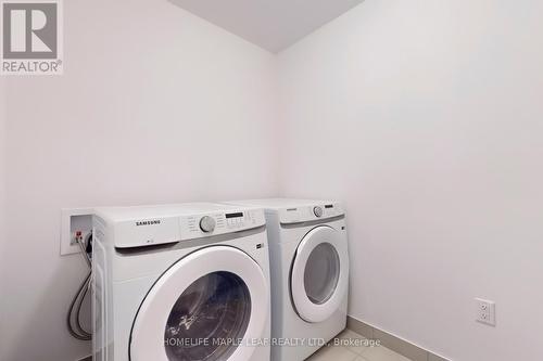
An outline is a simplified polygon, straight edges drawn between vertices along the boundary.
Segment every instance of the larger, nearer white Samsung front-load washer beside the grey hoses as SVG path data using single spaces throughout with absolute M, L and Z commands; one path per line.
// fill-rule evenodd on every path
M 262 209 L 99 208 L 92 255 L 94 361 L 269 360 Z

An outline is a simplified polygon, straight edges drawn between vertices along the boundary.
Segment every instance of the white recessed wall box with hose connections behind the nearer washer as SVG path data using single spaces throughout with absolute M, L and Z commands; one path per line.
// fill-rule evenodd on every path
M 85 241 L 92 231 L 92 208 L 64 208 L 61 211 L 61 256 L 77 254 L 81 249 L 76 236 Z

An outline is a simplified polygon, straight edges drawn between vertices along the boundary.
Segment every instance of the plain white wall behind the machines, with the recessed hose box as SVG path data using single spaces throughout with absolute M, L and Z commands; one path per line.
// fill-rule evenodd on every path
M 65 1 L 65 74 L 9 83 L 2 361 L 89 354 L 60 209 L 278 192 L 274 57 L 167 1 Z M 9 330 L 8 330 L 9 328 Z

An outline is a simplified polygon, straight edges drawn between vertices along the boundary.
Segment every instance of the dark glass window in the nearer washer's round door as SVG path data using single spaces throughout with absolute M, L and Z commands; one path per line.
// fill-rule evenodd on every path
M 228 360 L 250 317 L 251 295 L 239 276 L 219 271 L 198 279 L 169 313 L 164 332 L 168 360 Z

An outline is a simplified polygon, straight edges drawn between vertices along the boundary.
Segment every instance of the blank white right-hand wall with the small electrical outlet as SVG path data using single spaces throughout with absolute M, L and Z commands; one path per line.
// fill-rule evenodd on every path
M 279 57 L 282 191 L 345 201 L 351 314 L 453 360 L 543 358 L 542 13 L 367 0 Z

